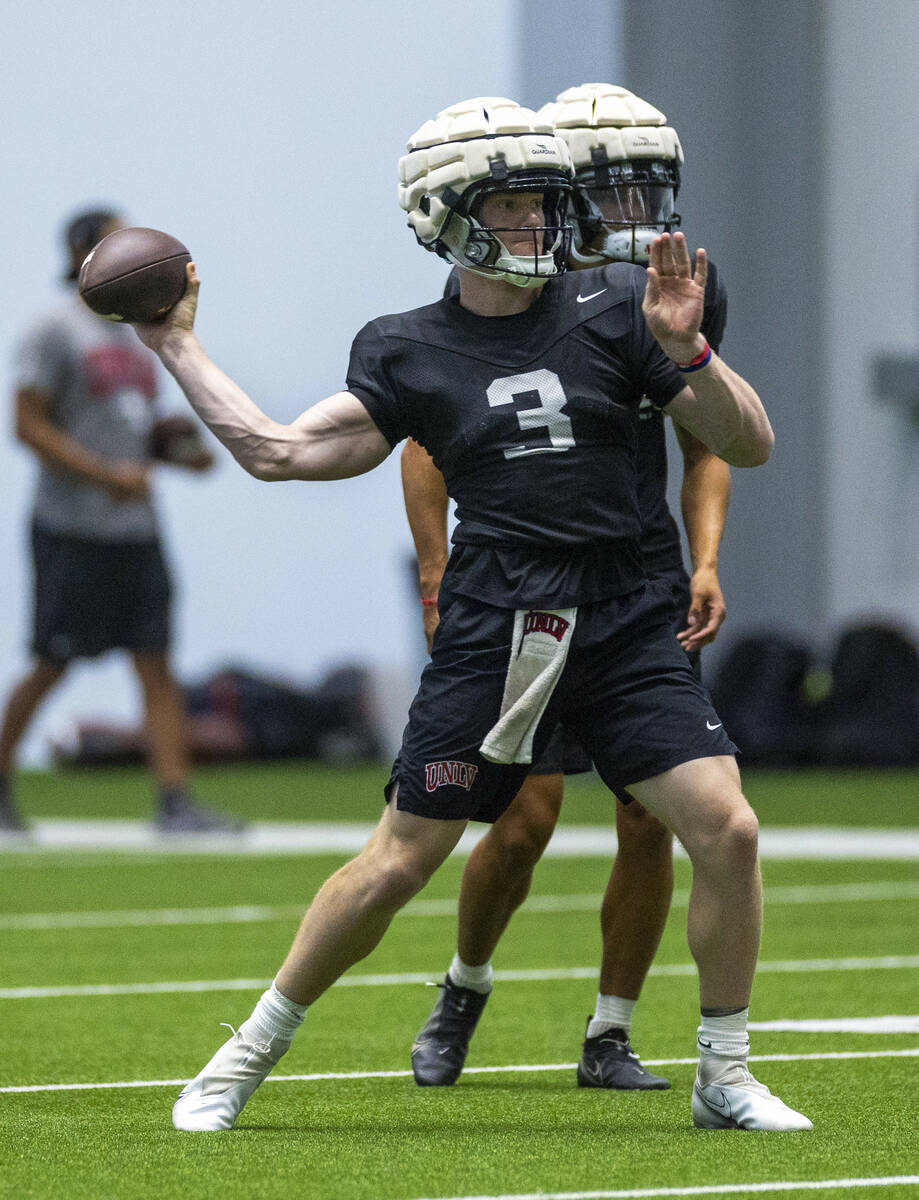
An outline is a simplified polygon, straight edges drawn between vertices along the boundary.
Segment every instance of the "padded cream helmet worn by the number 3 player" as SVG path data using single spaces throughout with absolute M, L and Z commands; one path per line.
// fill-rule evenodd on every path
M 565 270 L 571 161 L 565 140 L 531 109 L 498 96 L 461 101 L 413 134 L 398 166 L 398 200 L 425 250 L 524 288 Z M 524 227 L 531 253 L 511 253 L 501 240 L 512 233 L 519 250 L 519 227 L 479 220 L 485 197 L 507 192 L 542 194 L 543 223 Z

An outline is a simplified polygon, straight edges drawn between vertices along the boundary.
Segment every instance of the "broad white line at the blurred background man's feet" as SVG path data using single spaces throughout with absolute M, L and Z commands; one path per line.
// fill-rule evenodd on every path
M 362 822 L 254 822 L 245 834 L 211 838 L 169 836 L 146 821 L 36 821 L 31 835 L 1 836 L 0 850 L 136 851 L 160 854 L 354 854 L 374 829 Z M 454 853 L 468 854 L 486 827 L 470 827 Z M 609 826 L 560 826 L 549 842 L 548 857 L 605 858 L 615 854 L 615 832 Z M 677 853 L 683 850 L 677 847 Z M 764 828 L 759 830 L 762 858 L 900 859 L 919 862 L 919 829 L 853 829 L 831 827 Z

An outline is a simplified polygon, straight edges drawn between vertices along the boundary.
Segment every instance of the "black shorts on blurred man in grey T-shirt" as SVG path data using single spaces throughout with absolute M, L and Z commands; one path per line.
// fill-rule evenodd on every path
M 157 541 L 92 541 L 34 524 L 32 569 L 38 658 L 168 648 L 172 587 Z

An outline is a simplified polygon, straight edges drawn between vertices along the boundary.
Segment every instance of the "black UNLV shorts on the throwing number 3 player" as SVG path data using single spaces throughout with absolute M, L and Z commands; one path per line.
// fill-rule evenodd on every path
M 673 636 L 672 607 L 669 586 L 657 582 L 578 608 L 534 761 L 559 721 L 615 793 L 681 762 L 737 752 Z M 397 784 L 396 805 L 408 812 L 497 821 L 530 769 L 488 762 L 479 752 L 500 713 L 513 611 L 443 589 L 439 608 L 432 659 L 386 796 Z

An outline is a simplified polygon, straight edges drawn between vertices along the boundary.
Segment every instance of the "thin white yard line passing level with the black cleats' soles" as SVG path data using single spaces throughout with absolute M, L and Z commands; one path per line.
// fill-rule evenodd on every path
M 919 1058 L 919 1048 L 911 1050 L 839 1050 L 827 1054 L 751 1054 L 750 1062 L 828 1062 L 852 1058 Z M 697 1058 L 643 1058 L 645 1067 L 695 1067 Z M 464 1075 L 518 1075 L 547 1070 L 576 1070 L 575 1062 L 515 1063 L 507 1067 L 465 1067 Z M 410 1070 L 317 1072 L 312 1075 L 269 1075 L 266 1084 L 317 1084 L 349 1079 L 412 1079 Z M 0 1094 L 23 1092 L 96 1092 L 122 1087 L 184 1087 L 187 1079 L 131 1079 L 106 1084 L 18 1084 L 0 1087 Z

